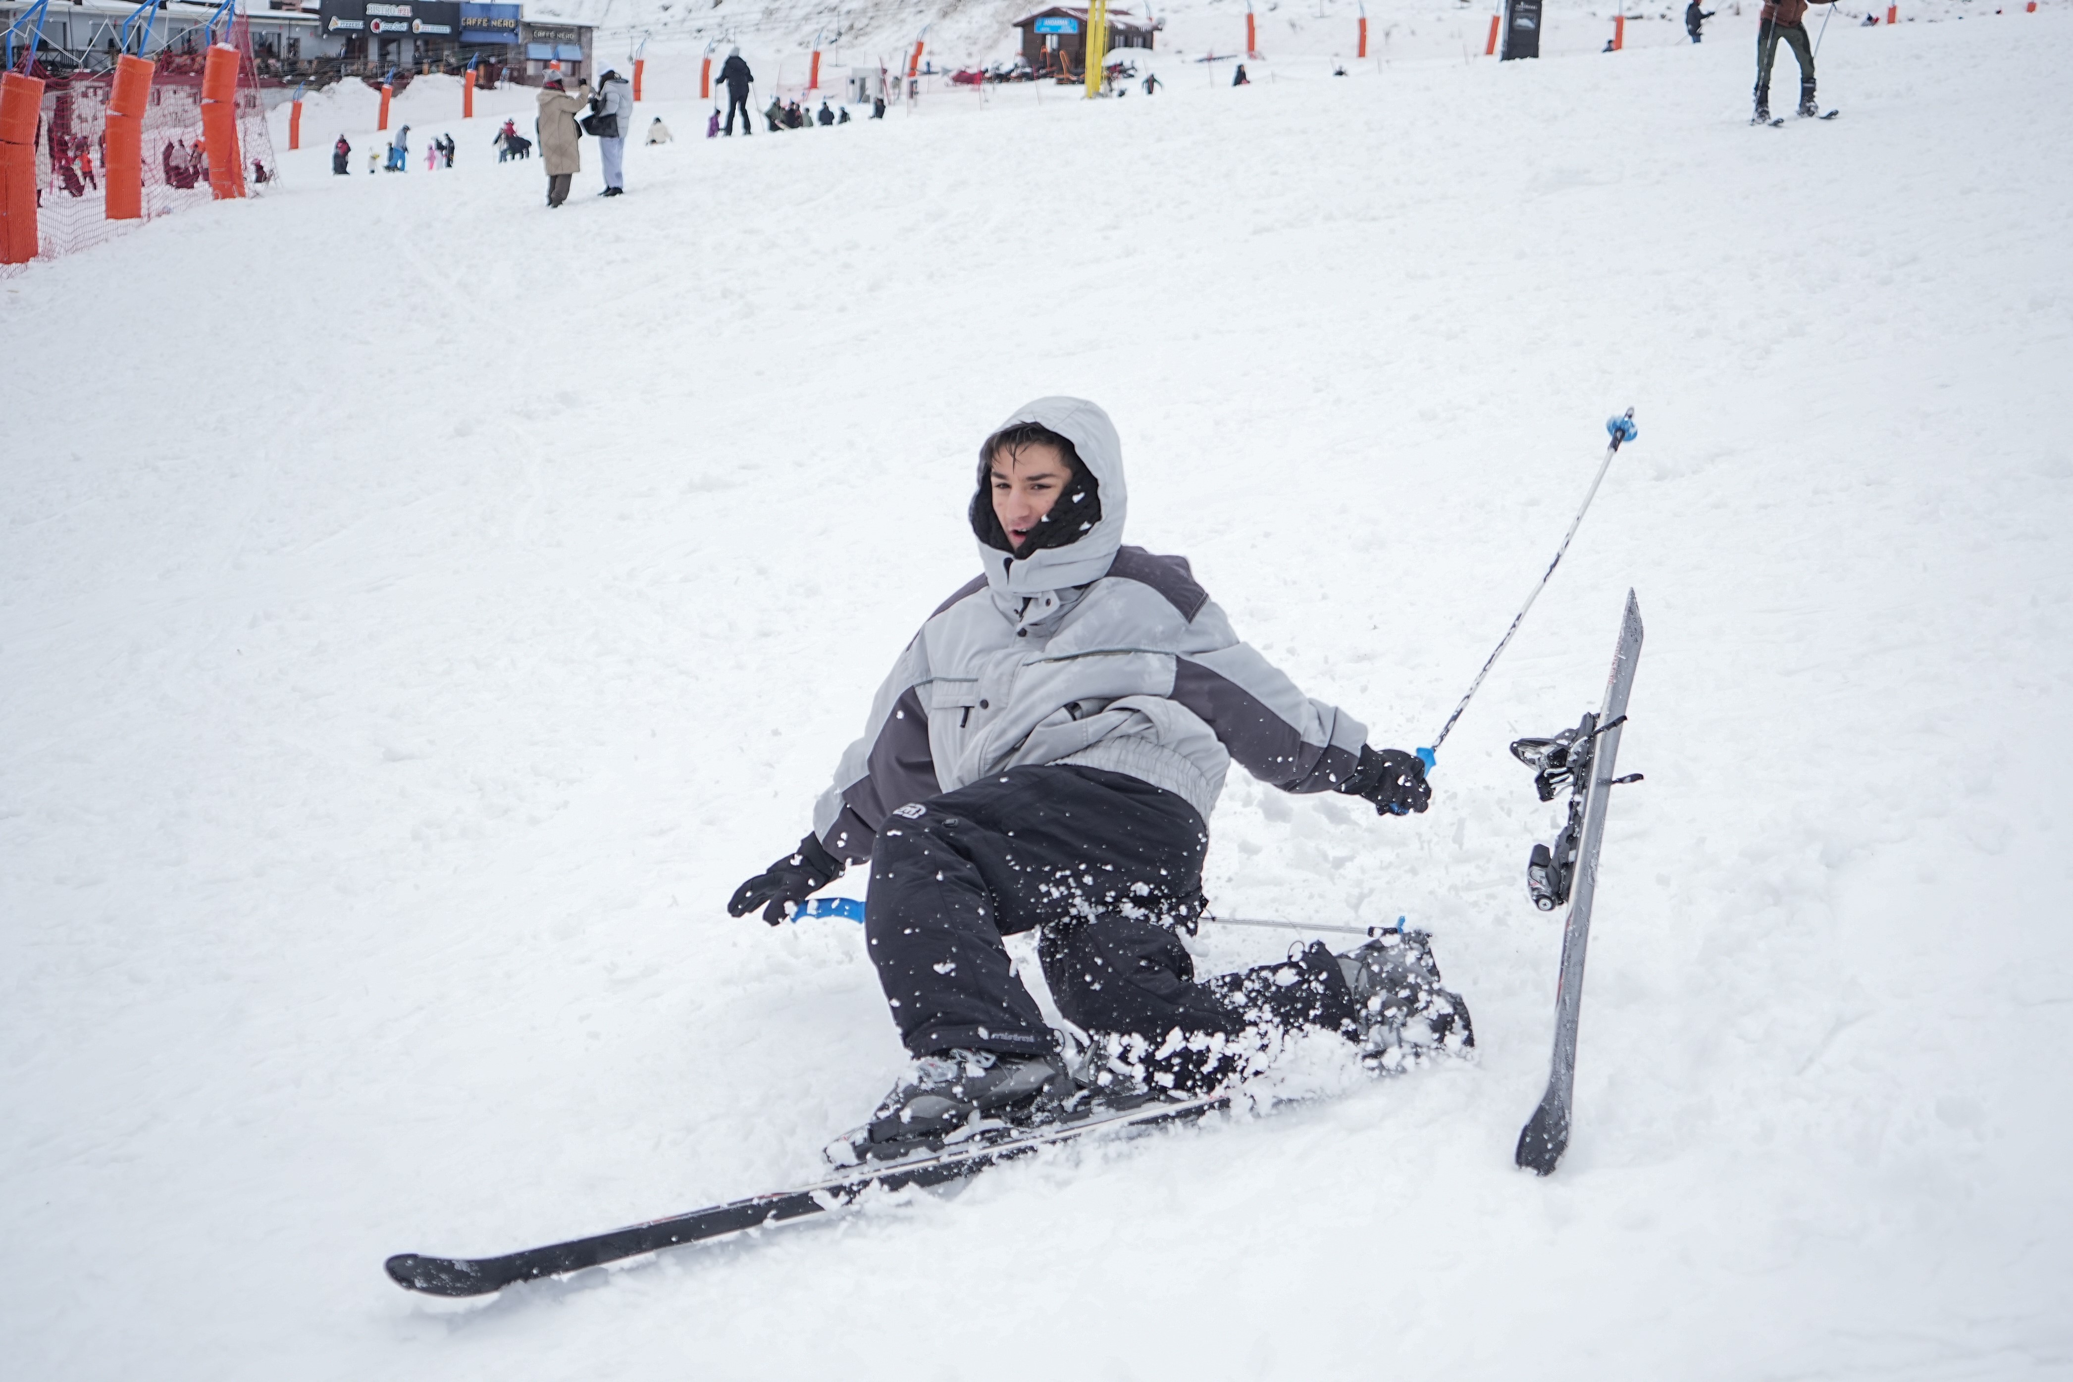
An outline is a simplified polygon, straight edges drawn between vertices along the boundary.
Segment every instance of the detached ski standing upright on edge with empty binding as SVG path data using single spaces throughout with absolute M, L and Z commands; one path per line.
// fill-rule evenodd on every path
M 1584 951 L 1590 945 L 1590 903 L 1598 891 L 1598 841 L 1605 837 L 1605 808 L 1613 794 L 1613 767 L 1619 758 L 1619 729 L 1627 719 L 1627 692 L 1634 690 L 1634 665 L 1642 657 L 1642 607 L 1627 591 L 1627 611 L 1619 622 L 1619 644 L 1613 651 L 1613 673 L 1605 684 L 1605 707 L 1596 717 L 1553 740 L 1520 740 L 1511 746 L 1536 769 L 1540 800 L 1553 798 L 1553 785 L 1567 781 L 1571 791 L 1569 827 L 1555 850 L 1534 847 L 1528 864 L 1528 887 L 1544 910 L 1569 903 L 1569 920 L 1561 937 L 1561 982 L 1555 990 L 1555 1057 L 1549 1063 L 1549 1088 L 1534 1117 L 1520 1129 L 1513 1160 L 1538 1175 L 1549 1175 L 1569 1148 L 1569 1098 L 1575 1088 L 1575 1024 L 1584 1003 Z M 1634 781 L 1634 779 L 1617 779 Z M 1582 798 L 1582 810 L 1578 810 Z

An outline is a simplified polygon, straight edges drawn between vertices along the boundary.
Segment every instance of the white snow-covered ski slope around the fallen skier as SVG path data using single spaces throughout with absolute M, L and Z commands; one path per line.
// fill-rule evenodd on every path
M 332 178 L 348 93 L 267 197 L 0 284 L 8 1376 L 2067 1376 L 2073 23 L 1837 25 L 1843 118 L 1779 131 L 1752 27 L 686 139 L 620 201 L 587 147 L 558 213 L 435 83 L 458 170 Z M 1047 392 L 1403 746 L 1636 406 L 1430 814 L 1215 820 L 1219 910 L 1430 928 L 1480 1063 L 1312 1048 L 1273 1117 L 398 1291 L 813 1177 L 883 1092 L 856 926 L 721 903 Z M 1538 1181 L 1505 742 L 1596 702 L 1629 584 L 1648 781 Z

